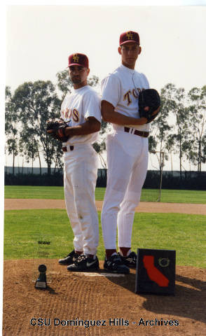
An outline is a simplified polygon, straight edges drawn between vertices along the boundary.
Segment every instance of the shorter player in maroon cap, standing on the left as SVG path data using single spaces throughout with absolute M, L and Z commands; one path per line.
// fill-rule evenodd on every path
M 88 57 L 81 53 L 69 56 L 69 76 L 74 86 L 61 106 L 66 128 L 64 151 L 64 197 L 74 232 L 74 251 L 60 259 L 69 271 L 99 269 L 97 246 L 99 221 L 95 206 L 98 158 L 92 143 L 101 127 L 100 97 L 87 83 Z

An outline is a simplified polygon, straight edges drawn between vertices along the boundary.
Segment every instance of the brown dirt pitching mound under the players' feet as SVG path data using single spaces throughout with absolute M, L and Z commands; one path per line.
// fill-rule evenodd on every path
M 4 336 L 205 335 L 205 269 L 177 266 L 176 295 L 159 296 L 135 294 L 135 270 L 105 276 L 102 262 L 96 274 L 70 273 L 57 260 L 46 266 L 48 289 L 37 290 L 34 260 L 4 262 Z

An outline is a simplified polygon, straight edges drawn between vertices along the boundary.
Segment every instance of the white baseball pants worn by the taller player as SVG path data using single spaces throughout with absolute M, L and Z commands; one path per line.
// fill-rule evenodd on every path
M 107 189 L 102 209 L 104 247 L 131 247 L 135 208 L 139 204 L 148 166 L 148 138 L 118 131 L 109 134 Z

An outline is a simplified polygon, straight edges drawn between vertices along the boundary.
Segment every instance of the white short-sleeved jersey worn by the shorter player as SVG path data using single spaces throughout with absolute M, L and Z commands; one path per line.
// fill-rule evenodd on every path
M 73 89 L 67 94 L 61 106 L 61 118 L 71 127 L 85 123 L 88 117 L 95 117 L 101 123 L 100 97 L 89 85 Z M 92 144 L 98 139 L 99 132 L 87 135 L 74 135 L 63 146 Z

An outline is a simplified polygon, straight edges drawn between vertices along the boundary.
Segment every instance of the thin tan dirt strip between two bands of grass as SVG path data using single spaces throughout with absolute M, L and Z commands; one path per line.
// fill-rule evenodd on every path
M 97 210 L 102 210 L 102 201 L 96 201 Z M 65 209 L 64 200 L 6 199 L 5 210 L 18 209 Z M 206 204 L 140 202 L 137 212 L 179 213 L 206 215 Z

